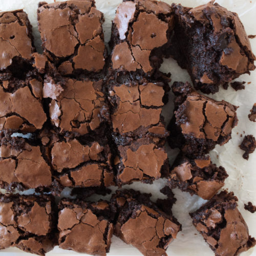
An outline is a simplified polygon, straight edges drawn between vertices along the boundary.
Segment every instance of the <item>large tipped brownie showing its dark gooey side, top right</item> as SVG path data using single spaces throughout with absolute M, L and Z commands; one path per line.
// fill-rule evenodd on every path
M 172 5 L 170 55 L 186 68 L 197 90 L 216 93 L 221 84 L 254 70 L 255 56 L 237 13 L 210 1 L 196 8 Z

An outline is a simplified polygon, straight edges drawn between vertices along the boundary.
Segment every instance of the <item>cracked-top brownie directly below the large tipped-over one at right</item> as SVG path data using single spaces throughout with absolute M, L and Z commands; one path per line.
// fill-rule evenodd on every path
M 190 157 L 207 154 L 231 138 L 237 125 L 237 106 L 216 101 L 194 91 L 188 82 L 174 82 L 174 117 L 169 124 L 169 144 Z

